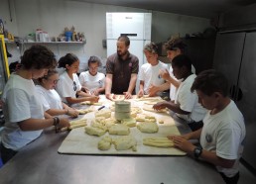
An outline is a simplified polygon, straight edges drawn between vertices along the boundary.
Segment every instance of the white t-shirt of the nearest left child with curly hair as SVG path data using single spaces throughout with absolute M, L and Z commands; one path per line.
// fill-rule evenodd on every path
M 18 122 L 28 119 L 45 119 L 43 105 L 37 96 L 33 80 L 12 74 L 5 85 L 2 101 L 4 105 L 5 129 L 2 142 L 6 148 L 18 150 L 38 138 L 40 131 L 22 131 Z

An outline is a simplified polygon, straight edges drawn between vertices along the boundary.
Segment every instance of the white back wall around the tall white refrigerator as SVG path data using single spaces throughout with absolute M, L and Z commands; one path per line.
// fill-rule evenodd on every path
M 2 1 L 2 0 L 1 0 Z M 106 12 L 151 12 L 152 41 L 164 42 L 174 34 L 184 37 L 186 34 L 203 32 L 209 27 L 209 20 L 178 14 L 148 11 L 119 6 L 99 5 L 68 0 L 10 0 L 13 22 L 8 21 L 8 0 L 1 3 L 0 17 L 6 20 L 9 32 L 21 38 L 35 32 L 37 28 L 47 31 L 50 36 L 58 37 L 64 27 L 75 27 L 86 38 L 84 46 L 50 46 L 61 56 L 66 52 L 77 55 L 99 55 L 106 57 L 102 40 L 106 39 Z M 2 10 L 3 15 L 2 15 Z M 16 49 L 16 46 L 10 46 Z M 11 51 L 11 50 L 10 50 Z

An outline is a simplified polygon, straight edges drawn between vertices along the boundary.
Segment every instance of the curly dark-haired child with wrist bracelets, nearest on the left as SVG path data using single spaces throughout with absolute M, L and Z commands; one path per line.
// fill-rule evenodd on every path
M 12 73 L 2 95 L 5 128 L 0 145 L 6 163 L 20 148 L 40 137 L 43 129 L 68 127 L 68 119 L 44 113 L 33 79 L 47 74 L 56 65 L 53 51 L 46 46 L 31 46 L 25 50 L 21 68 Z M 48 118 L 48 119 L 45 119 Z

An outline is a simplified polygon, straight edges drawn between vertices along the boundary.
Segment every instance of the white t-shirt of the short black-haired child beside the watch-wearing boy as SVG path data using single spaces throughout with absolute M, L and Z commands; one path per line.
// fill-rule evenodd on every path
M 191 91 L 192 83 L 195 77 L 196 75 L 192 74 L 180 84 L 175 99 L 175 103 L 180 104 L 180 108 L 182 110 L 191 112 L 189 115 L 177 114 L 177 116 L 186 120 L 188 123 L 191 123 L 192 121 L 199 122 L 204 118 L 206 114 L 206 109 L 204 109 L 198 103 L 197 94 L 195 91 Z

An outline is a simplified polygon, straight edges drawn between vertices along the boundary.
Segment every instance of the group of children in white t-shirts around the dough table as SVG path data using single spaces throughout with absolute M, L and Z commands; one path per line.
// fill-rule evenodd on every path
M 153 108 L 169 108 L 188 122 L 192 133 L 168 138 L 195 158 L 214 164 L 226 183 L 237 183 L 245 126 L 242 114 L 228 97 L 227 80 L 214 70 L 196 76 L 191 59 L 183 53 L 185 44 L 181 40 L 168 42 L 166 48 L 170 68 L 158 60 L 154 43 L 144 46 L 148 63 L 141 66 L 137 95 L 156 96 L 170 89 L 171 101 L 158 103 Z M 98 94 L 105 90 L 105 75 L 97 72 L 100 61 L 95 56 L 88 60 L 89 70 L 79 77 L 76 75 L 79 59 L 74 54 L 67 53 L 59 60 L 58 67 L 65 69 L 59 76 L 55 55 L 45 46 L 27 49 L 21 64 L 22 67 L 10 76 L 2 95 L 6 123 L 0 151 L 4 163 L 21 147 L 38 138 L 43 129 L 68 127 L 68 119 L 58 117 L 78 116 L 68 105 L 97 102 Z M 34 79 L 38 81 L 36 86 Z M 107 88 L 109 93 L 109 86 Z M 193 138 L 199 139 L 200 146 L 189 141 Z

